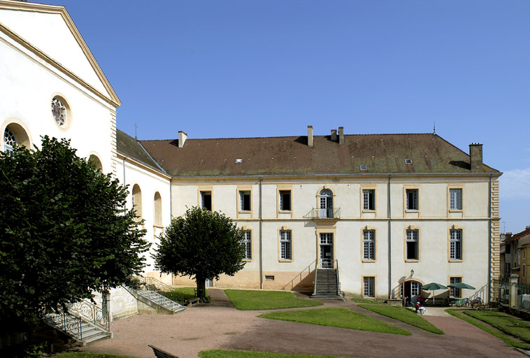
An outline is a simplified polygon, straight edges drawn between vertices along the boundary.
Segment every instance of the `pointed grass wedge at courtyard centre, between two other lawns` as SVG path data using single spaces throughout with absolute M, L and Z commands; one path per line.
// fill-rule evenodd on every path
M 373 305 L 375 306 L 375 305 Z M 315 308 L 312 310 L 287 310 L 281 312 L 265 313 L 259 317 L 271 320 L 283 320 L 321 326 L 357 329 L 359 331 L 371 331 L 389 334 L 410 333 L 392 324 L 388 324 L 367 315 L 348 310 L 348 308 Z

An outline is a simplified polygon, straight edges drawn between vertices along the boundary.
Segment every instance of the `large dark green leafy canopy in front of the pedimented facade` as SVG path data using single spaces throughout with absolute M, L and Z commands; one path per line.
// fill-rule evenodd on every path
M 45 136 L 0 154 L 0 317 L 38 317 L 127 284 L 149 249 L 127 189 Z

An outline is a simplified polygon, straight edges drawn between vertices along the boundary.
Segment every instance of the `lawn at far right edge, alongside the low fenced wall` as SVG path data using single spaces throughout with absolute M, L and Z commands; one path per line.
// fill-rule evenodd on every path
M 464 310 L 464 313 L 491 324 L 510 336 L 530 343 L 530 322 L 499 312 L 499 310 Z

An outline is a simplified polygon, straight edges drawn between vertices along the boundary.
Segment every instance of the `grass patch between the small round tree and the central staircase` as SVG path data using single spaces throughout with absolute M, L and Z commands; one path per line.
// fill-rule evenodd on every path
M 228 298 L 238 310 L 279 310 L 320 306 L 322 302 L 299 299 L 292 292 L 252 291 L 246 289 L 225 289 Z

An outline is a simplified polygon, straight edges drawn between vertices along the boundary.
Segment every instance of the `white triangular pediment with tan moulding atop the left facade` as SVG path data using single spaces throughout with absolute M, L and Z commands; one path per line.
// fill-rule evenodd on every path
M 120 106 L 120 99 L 63 6 L 0 0 L 0 31 Z

